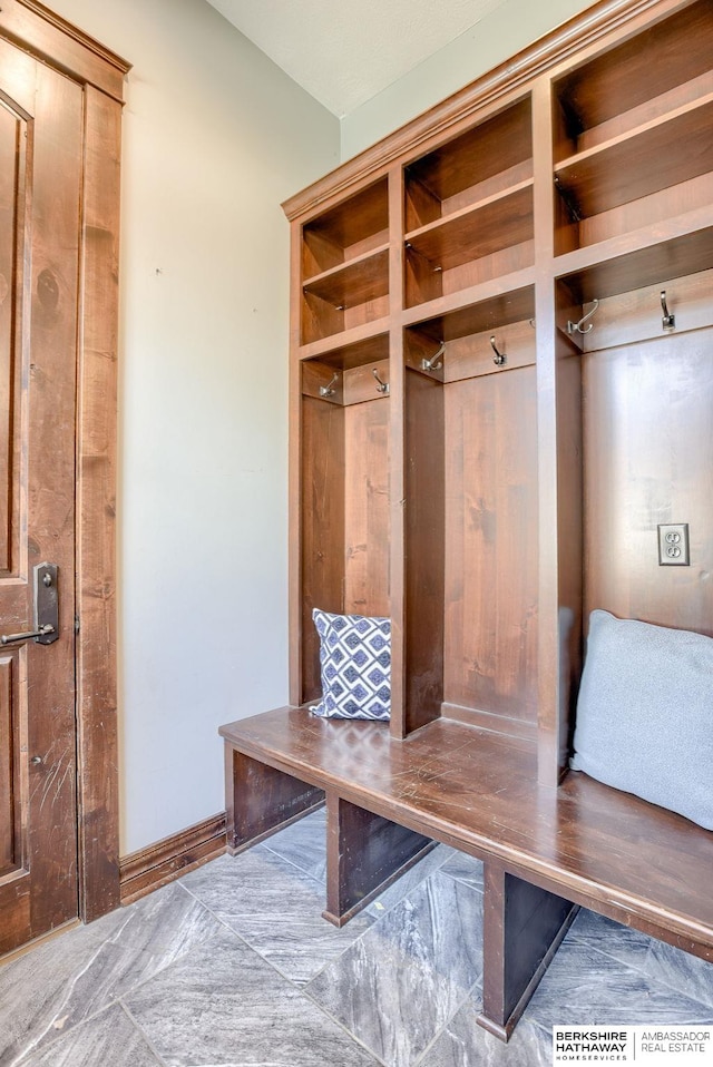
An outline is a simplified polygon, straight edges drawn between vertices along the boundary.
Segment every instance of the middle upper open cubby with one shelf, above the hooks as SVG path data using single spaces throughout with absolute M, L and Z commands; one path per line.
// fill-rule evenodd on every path
M 529 96 L 406 168 L 406 303 L 534 262 Z

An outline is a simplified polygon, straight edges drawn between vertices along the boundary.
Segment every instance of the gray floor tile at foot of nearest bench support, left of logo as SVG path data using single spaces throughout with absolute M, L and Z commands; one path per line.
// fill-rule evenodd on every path
M 551 1067 L 550 1037 L 528 1019 L 520 1019 L 505 1045 L 478 1026 L 479 1002 L 468 1002 L 419 1060 L 418 1067 Z

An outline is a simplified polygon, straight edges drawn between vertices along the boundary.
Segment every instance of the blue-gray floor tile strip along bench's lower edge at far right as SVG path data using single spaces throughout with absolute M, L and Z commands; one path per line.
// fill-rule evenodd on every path
M 567 934 L 713 1009 L 713 963 L 584 908 Z

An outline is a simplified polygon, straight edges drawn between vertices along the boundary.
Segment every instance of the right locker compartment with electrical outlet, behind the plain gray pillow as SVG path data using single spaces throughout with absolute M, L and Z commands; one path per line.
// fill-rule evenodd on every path
M 569 745 L 595 608 L 713 636 L 713 242 L 703 270 L 702 256 L 664 251 L 662 260 L 690 273 L 654 278 L 642 257 L 637 272 L 613 261 L 557 283 L 557 345 L 574 355 L 560 360 L 569 370 L 557 401 L 557 607 L 572 627 L 559 650 L 568 686 L 561 736 Z M 567 323 L 595 306 L 577 351 Z M 688 525 L 690 566 L 660 562 L 661 523 Z

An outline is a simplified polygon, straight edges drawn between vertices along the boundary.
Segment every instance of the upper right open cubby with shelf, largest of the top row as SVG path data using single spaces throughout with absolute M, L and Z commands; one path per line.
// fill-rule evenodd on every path
M 555 81 L 555 253 L 713 203 L 713 10 L 699 0 Z

